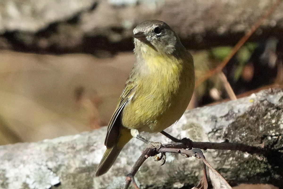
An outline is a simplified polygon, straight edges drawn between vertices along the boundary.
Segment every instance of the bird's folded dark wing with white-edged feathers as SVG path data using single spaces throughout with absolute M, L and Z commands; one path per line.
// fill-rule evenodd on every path
M 135 88 L 136 82 L 134 82 L 134 80 L 129 77 L 118 101 L 117 108 L 115 109 L 108 124 L 108 130 L 104 142 L 107 148 L 112 148 L 112 146 L 118 142 L 120 128 L 123 126 L 121 120 L 121 112 L 128 101 L 130 101 L 130 99 L 132 99 L 132 97 L 134 96 Z

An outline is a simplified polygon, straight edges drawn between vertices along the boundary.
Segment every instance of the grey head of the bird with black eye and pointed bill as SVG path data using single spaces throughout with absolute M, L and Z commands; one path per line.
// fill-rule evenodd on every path
M 160 20 L 146 20 L 134 29 L 135 52 L 151 47 L 162 54 L 172 54 L 176 44 L 183 46 L 176 33 Z M 141 52 L 142 53 L 142 52 Z

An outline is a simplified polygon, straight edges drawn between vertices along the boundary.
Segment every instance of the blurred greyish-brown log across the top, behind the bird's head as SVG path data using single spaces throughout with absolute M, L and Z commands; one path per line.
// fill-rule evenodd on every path
M 167 22 L 187 48 L 235 44 L 275 0 L 2 0 L 0 48 L 106 56 L 132 50 L 143 20 Z M 282 38 L 283 4 L 251 39 Z M 108 52 L 108 53 L 106 53 Z

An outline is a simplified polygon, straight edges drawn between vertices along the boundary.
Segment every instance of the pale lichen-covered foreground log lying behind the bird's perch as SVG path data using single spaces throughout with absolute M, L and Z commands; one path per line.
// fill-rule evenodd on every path
M 207 161 L 231 184 L 269 183 L 283 187 L 283 91 L 267 90 L 249 97 L 185 112 L 173 136 L 193 141 L 244 143 L 269 149 L 265 156 L 233 150 L 205 150 Z M 38 143 L 0 146 L 0 188 L 121 188 L 125 175 L 146 145 L 132 139 L 113 167 L 101 177 L 95 171 L 106 147 L 106 127 Z M 160 133 L 144 135 L 151 141 L 170 143 Z M 181 188 L 198 183 L 201 161 L 167 153 L 167 162 L 149 158 L 136 181 L 143 188 Z

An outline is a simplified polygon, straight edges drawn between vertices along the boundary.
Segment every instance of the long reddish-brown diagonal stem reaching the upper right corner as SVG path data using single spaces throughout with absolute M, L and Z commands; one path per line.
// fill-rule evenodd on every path
M 199 79 L 196 82 L 195 88 L 197 88 L 198 86 L 200 86 L 200 84 L 202 82 L 204 82 L 205 80 L 207 80 L 208 78 L 210 78 L 211 76 L 213 76 L 215 73 L 218 73 L 220 71 L 222 71 L 222 69 L 226 66 L 226 64 L 230 61 L 230 59 L 236 54 L 236 52 L 238 52 L 238 50 L 241 48 L 241 46 L 243 46 L 243 44 L 250 38 L 250 36 L 256 31 L 256 29 L 258 29 L 258 27 L 260 27 L 260 25 L 262 24 L 262 22 L 271 14 L 274 12 L 274 10 L 276 9 L 276 7 L 278 7 L 278 5 L 281 3 L 282 0 L 277 0 L 276 3 L 274 3 L 274 5 L 272 7 L 270 7 L 265 14 L 263 14 L 263 16 L 260 18 L 260 20 L 258 20 L 258 22 L 256 22 L 250 29 L 250 31 L 248 31 L 243 37 L 242 39 L 233 47 L 233 49 L 231 50 L 230 54 L 213 70 L 208 71 L 207 73 L 204 74 L 204 77 Z

